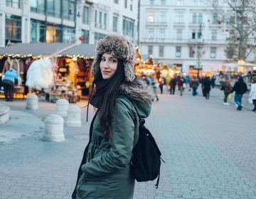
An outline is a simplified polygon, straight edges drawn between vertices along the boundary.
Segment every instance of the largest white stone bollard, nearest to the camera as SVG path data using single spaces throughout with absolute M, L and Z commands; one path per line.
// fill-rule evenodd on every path
M 44 120 L 45 133 L 43 134 L 44 141 L 63 141 L 65 136 L 63 134 L 63 117 L 58 114 L 50 114 Z

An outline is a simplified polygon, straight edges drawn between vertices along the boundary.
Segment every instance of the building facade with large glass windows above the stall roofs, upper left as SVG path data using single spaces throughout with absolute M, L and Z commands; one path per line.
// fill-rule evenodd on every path
M 1 0 L 0 47 L 90 43 L 119 34 L 137 43 L 136 0 Z

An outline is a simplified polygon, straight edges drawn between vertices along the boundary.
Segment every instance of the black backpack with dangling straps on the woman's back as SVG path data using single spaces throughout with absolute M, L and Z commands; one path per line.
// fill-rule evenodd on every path
M 154 181 L 158 176 L 156 181 L 156 188 L 158 188 L 161 160 L 163 161 L 163 159 L 154 137 L 144 126 L 145 120 L 139 114 L 138 117 L 140 122 L 139 139 L 132 149 L 132 174 L 138 182 Z

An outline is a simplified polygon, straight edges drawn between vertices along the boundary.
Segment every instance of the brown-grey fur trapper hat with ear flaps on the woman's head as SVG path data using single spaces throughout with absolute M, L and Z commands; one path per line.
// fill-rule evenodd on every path
M 136 60 L 136 50 L 133 43 L 124 36 L 109 35 L 97 43 L 96 56 L 92 63 L 91 72 L 95 76 L 100 70 L 102 54 L 109 53 L 114 57 L 124 61 L 125 80 L 134 80 L 134 65 Z

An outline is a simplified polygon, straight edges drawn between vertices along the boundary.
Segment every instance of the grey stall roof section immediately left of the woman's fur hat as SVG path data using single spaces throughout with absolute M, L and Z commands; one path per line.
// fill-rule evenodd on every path
M 94 57 L 96 45 L 82 43 L 80 45 L 75 46 L 74 48 L 70 48 L 68 50 L 63 51 L 60 55 L 80 55 L 85 57 Z

